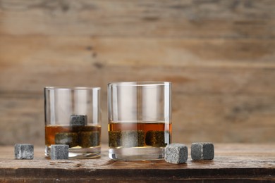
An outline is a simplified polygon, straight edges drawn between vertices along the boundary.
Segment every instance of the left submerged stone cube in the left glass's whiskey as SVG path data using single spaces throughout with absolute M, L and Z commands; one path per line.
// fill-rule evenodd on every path
M 73 132 L 56 133 L 55 144 L 66 144 L 69 147 L 78 146 L 78 134 Z

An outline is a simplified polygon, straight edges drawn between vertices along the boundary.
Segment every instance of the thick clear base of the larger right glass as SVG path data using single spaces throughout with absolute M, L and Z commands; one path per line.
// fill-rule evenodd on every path
M 109 158 L 112 160 L 163 160 L 164 148 L 151 146 L 109 148 Z

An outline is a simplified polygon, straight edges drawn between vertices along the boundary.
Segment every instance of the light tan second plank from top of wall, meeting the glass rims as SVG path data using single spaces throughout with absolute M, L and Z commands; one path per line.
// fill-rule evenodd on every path
M 219 39 L 0 39 L 0 89 L 37 92 L 43 86 L 62 83 L 105 88 L 108 82 L 119 80 L 169 80 L 176 84 L 173 89 L 177 92 L 245 90 L 244 94 L 274 95 L 275 91 L 273 39 L 255 39 L 254 44 Z M 185 87 L 178 89 L 178 84 Z

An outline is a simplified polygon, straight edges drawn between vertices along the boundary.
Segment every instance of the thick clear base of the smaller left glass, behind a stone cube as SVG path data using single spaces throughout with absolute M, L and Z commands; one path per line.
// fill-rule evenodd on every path
M 69 148 L 69 159 L 98 158 L 100 156 L 100 146 L 91 148 L 74 147 Z M 45 146 L 45 156 L 51 158 L 51 146 Z

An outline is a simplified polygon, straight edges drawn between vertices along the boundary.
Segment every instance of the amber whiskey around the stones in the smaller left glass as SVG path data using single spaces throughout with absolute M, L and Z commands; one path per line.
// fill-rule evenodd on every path
M 51 146 L 55 143 L 55 137 L 57 133 L 80 133 L 80 132 L 97 132 L 100 137 L 101 126 L 59 126 L 50 125 L 45 127 L 45 144 L 46 146 Z M 100 138 L 99 138 L 100 139 Z M 100 144 L 98 141 L 97 144 Z M 79 147 L 79 146 L 78 146 Z

